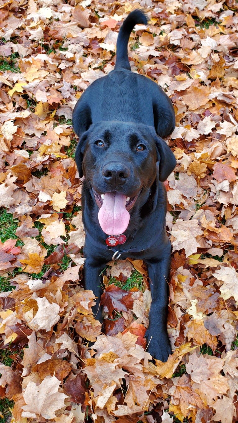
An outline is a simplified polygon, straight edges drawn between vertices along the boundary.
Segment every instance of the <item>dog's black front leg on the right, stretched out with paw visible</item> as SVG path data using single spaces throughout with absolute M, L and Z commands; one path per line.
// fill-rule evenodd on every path
M 167 332 L 170 249 L 162 259 L 147 260 L 152 302 L 146 332 L 148 352 L 157 360 L 167 361 L 172 354 Z

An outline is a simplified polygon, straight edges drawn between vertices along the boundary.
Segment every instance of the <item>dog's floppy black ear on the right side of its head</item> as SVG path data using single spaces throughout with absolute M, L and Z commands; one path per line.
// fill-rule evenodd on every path
M 170 173 L 174 170 L 176 159 L 169 146 L 167 146 L 161 137 L 156 137 L 155 144 L 158 152 L 159 180 L 163 182 L 166 181 Z

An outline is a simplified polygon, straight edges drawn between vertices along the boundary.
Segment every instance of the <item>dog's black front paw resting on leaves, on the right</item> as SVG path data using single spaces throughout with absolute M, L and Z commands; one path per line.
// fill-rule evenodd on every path
M 153 358 L 160 361 L 167 361 L 169 354 L 172 354 L 169 336 L 166 333 L 153 333 L 149 330 L 145 334 L 147 338 L 147 351 Z

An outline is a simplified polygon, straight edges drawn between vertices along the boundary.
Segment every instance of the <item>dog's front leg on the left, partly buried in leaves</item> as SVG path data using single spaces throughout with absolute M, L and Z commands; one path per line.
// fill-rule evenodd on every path
M 97 263 L 86 258 L 83 268 L 84 288 L 91 289 L 96 297 L 96 305 L 92 307 L 94 318 L 102 323 L 102 307 L 100 299 L 103 292 L 101 273 L 105 269 L 105 263 Z

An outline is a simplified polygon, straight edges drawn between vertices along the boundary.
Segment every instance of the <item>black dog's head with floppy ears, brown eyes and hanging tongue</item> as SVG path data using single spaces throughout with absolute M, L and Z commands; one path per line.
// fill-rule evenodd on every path
M 125 232 L 129 211 L 142 193 L 149 192 L 157 173 L 165 181 L 176 164 L 154 128 L 119 121 L 92 124 L 80 137 L 75 161 L 99 207 L 100 226 L 109 235 Z

